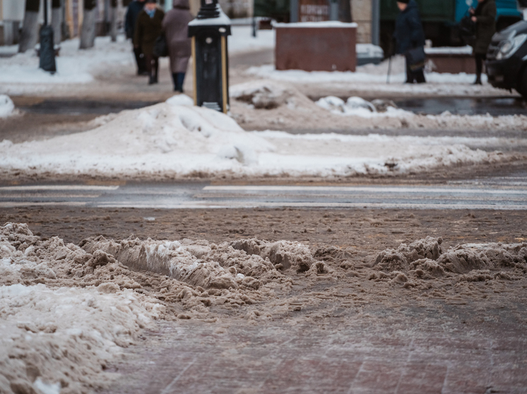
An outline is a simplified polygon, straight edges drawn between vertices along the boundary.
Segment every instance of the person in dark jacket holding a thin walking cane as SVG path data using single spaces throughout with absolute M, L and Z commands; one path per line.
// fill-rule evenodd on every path
M 401 13 L 397 16 L 396 29 L 393 37 L 396 39 L 396 52 L 408 54 L 410 49 L 425 46 L 425 32 L 422 30 L 418 4 L 415 0 L 398 0 L 397 6 Z M 406 56 L 406 83 L 424 83 L 425 73 L 420 70 L 411 70 Z

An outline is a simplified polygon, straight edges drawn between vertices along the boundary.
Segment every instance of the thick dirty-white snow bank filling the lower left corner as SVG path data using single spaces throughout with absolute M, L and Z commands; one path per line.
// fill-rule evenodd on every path
M 77 260 L 65 260 L 66 250 Z M 1 393 L 96 388 L 94 377 L 119 348 L 134 343 L 164 311 L 109 276 L 76 287 L 79 277 L 71 269 L 82 266 L 83 257 L 75 245 L 41 241 L 27 226 L 0 228 Z

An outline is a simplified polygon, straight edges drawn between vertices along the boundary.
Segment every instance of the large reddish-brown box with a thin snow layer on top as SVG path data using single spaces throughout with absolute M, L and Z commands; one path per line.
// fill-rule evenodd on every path
M 355 71 L 356 44 L 356 23 L 279 23 L 276 69 Z

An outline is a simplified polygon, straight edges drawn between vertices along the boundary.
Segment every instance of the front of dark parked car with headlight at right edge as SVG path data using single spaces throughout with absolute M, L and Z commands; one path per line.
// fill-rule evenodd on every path
M 492 36 L 485 66 L 492 86 L 515 89 L 527 99 L 526 20 L 514 23 Z

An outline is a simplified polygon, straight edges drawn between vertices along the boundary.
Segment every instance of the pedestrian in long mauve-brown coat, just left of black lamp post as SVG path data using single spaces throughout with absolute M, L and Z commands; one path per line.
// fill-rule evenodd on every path
M 173 0 L 174 8 L 163 19 L 163 30 L 170 55 L 170 71 L 174 80 L 174 91 L 183 92 L 186 67 L 191 56 L 189 22 L 192 20 L 189 0 Z

